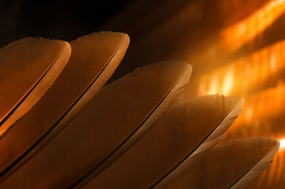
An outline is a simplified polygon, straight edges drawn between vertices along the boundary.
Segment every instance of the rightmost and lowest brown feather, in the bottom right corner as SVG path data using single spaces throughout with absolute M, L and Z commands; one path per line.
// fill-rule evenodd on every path
M 220 144 L 166 188 L 245 188 L 270 166 L 278 149 L 279 141 L 264 137 Z

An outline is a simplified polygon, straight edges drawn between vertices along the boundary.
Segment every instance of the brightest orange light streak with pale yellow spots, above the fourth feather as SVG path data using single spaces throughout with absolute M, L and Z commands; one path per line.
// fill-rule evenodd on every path
M 283 75 L 283 72 L 285 72 L 285 41 L 280 41 L 229 63 L 223 68 L 202 75 L 197 85 L 197 96 L 214 93 L 244 96 L 256 90 L 258 85 L 271 82 L 269 79 L 274 80 L 274 77 Z

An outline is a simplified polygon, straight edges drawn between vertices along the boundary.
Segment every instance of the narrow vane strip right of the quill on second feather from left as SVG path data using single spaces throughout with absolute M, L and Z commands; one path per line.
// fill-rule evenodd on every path
M 118 64 L 120 63 L 120 60 L 123 59 L 125 52 L 128 48 L 130 38 L 128 34 L 124 34 L 124 37 L 118 46 L 117 50 L 115 50 L 115 53 L 113 54 L 112 58 L 110 58 L 107 65 L 105 65 L 105 68 L 100 72 L 98 77 L 96 77 L 92 84 L 88 87 L 88 89 L 83 92 L 83 95 L 79 97 L 79 99 L 71 105 L 71 108 L 68 109 L 68 112 L 63 114 L 63 116 L 56 121 L 56 124 L 51 126 L 51 129 L 49 129 L 46 134 L 44 134 L 36 143 L 31 146 L 30 149 L 28 149 L 28 153 L 24 154 L 24 157 L 20 157 L 21 159 L 16 160 L 14 165 L 9 168 L 8 170 L 4 170 L 0 175 L 2 174 L 0 178 L 0 183 L 4 182 L 6 178 L 8 178 L 11 174 L 13 174 L 15 171 L 17 171 L 21 166 L 24 165 L 28 160 L 30 160 L 38 151 L 40 151 L 46 144 L 48 144 L 56 135 L 61 132 L 66 124 L 68 124 L 69 121 L 73 117 L 80 112 L 82 107 L 84 107 L 92 97 L 100 90 L 101 87 L 107 82 L 108 78 L 110 77 L 111 73 L 115 71 L 115 68 L 117 68 Z M 116 63 L 118 62 L 118 63 Z

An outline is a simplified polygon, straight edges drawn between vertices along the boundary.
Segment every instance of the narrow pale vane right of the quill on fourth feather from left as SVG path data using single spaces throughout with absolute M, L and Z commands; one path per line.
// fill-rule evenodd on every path
M 175 180 L 180 174 L 182 174 L 189 166 L 192 165 L 202 154 L 209 151 L 211 148 L 216 146 L 220 141 L 222 141 L 223 134 L 229 126 L 231 126 L 235 119 L 242 112 L 242 105 L 244 104 L 244 99 L 239 99 L 237 104 L 234 105 L 232 110 L 222 119 L 221 122 L 215 127 L 215 129 L 207 136 L 204 141 L 202 141 L 199 146 L 192 151 L 188 156 L 182 160 L 178 165 L 167 173 L 163 178 L 157 181 L 151 188 L 165 188 L 168 183 Z

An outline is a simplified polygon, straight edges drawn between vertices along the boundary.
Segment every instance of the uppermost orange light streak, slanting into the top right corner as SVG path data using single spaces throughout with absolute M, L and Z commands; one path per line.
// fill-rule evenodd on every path
M 264 31 L 284 11 L 285 0 L 269 1 L 268 4 L 247 18 L 225 28 L 222 31 L 224 43 L 229 48 L 239 48 L 242 44 L 251 41 L 254 36 Z

